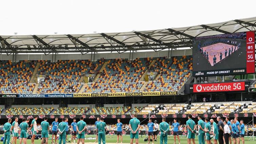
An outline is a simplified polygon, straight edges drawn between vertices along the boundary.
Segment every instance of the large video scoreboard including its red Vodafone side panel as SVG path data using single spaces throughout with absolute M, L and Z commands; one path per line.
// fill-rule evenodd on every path
M 255 73 L 255 32 L 193 39 L 193 76 Z

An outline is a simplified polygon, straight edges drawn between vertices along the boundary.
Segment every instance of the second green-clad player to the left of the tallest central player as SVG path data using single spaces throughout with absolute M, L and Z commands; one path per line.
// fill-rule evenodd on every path
M 82 142 L 82 144 L 84 144 L 84 134 L 85 134 L 85 129 L 86 129 L 86 123 L 83 121 L 83 117 L 80 117 L 80 121 L 77 122 L 76 125 L 76 130 L 78 132 L 77 134 L 77 144 L 80 143 L 80 141 Z

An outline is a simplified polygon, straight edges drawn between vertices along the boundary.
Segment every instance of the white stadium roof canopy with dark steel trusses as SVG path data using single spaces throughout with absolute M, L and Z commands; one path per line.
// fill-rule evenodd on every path
M 256 17 L 227 22 L 158 30 L 80 34 L 0 36 L 0 52 L 12 53 L 122 53 L 133 50 L 191 47 L 194 37 L 256 30 Z

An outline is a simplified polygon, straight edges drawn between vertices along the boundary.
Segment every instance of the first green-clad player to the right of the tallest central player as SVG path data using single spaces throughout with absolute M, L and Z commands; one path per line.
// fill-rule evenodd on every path
M 162 122 L 159 124 L 159 129 L 161 131 L 161 134 L 160 134 L 160 144 L 163 144 L 163 141 L 164 141 L 164 144 L 167 144 L 167 133 L 168 131 L 170 130 L 169 129 L 169 124 L 165 122 L 166 121 L 166 118 L 163 117 L 162 119 Z

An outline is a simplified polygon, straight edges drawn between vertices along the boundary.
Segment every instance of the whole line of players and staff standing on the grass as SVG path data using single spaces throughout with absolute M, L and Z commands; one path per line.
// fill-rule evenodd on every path
M 24 144 L 27 142 L 28 138 L 28 130 L 31 129 L 32 131 L 32 138 L 31 138 L 31 144 L 34 144 L 34 140 L 36 137 L 36 133 L 38 132 L 37 130 L 37 116 L 34 117 L 31 127 L 29 128 L 28 122 L 30 121 L 29 119 L 22 119 L 22 123 L 20 124 L 20 144 L 22 141 Z M 17 138 L 18 138 L 18 118 L 15 118 L 15 121 L 11 125 L 12 119 L 8 119 L 8 122 L 4 124 L 3 130 L 4 130 L 4 140 L 3 144 L 9 144 L 10 141 L 10 135 L 12 131 L 13 139 L 12 139 L 12 144 L 13 142 L 16 144 L 17 143 Z M 52 143 L 53 143 L 53 138 L 55 136 L 55 144 L 57 144 L 57 131 L 59 131 L 59 144 L 63 142 L 63 144 L 66 143 L 67 135 L 68 135 L 68 118 L 63 118 L 62 122 L 58 122 L 58 118 L 55 119 L 55 121 L 52 123 Z M 240 144 L 240 139 L 241 137 L 242 144 L 244 144 L 244 124 L 243 120 L 238 122 L 238 118 L 236 117 L 234 120 L 230 121 L 230 118 L 227 117 L 225 121 L 223 121 L 220 117 L 217 118 L 218 124 L 214 122 L 213 119 L 209 120 L 208 118 L 205 118 L 204 121 L 202 120 L 201 116 L 198 116 L 198 142 L 199 144 L 205 144 L 205 141 L 207 144 L 211 144 L 211 139 L 213 139 L 214 144 L 232 144 L 231 137 L 233 138 L 233 143 L 234 144 Z M 105 130 L 106 130 L 106 123 L 103 121 L 103 118 L 97 118 L 97 121 L 95 122 L 96 125 L 96 141 L 100 144 L 101 141 L 103 144 L 105 144 Z M 187 133 L 187 142 L 188 144 L 191 144 L 191 141 L 193 144 L 195 144 L 195 133 L 197 133 L 196 130 L 196 123 L 192 120 L 192 115 L 188 116 L 188 121 L 186 121 L 186 125 L 188 128 L 188 133 Z M 168 132 L 170 131 L 169 129 L 169 124 L 166 122 L 166 118 L 162 118 L 162 122 L 158 125 L 157 122 L 155 121 L 155 124 L 152 123 L 152 120 L 149 119 L 149 123 L 147 124 L 148 126 L 148 136 L 149 136 L 149 142 L 151 141 L 151 136 L 152 136 L 152 143 L 156 141 L 157 137 L 156 135 L 158 134 L 158 128 L 161 131 L 160 133 L 160 144 L 167 144 L 168 141 Z M 180 144 L 180 138 L 178 134 L 179 130 L 179 123 L 177 122 L 177 119 L 174 119 L 174 123 L 172 124 L 173 126 L 173 135 L 174 135 L 174 144 L 176 144 L 176 136 L 178 138 L 178 142 Z M 41 127 L 42 127 L 42 141 L 41 144 L 48 144 L 48 132 L 50 130 L 50 125 L 47 122 L 47 117 L 44 118 L 44 121 L 41 122 Z M 139 140 L 139 128 L 140 128 L 140 121 L 137 119 L 137 114 L 134 114 L 134 118 L 130 120 L 129 122 L 129 128 L 131 130 L 130 133 L 130 144 L 133 144 L 133 141 L 135 139 L 136 144 L 138 144 Z M 77 136 L 77 144 L 82 142 L 84 144 L 84 138 L 85 138 L 85 130 L 86 130 L 86 123 L 83 121 L 83 117 L 80 117 L 80 121 L 76 123 L 76 119 L 73 119 L 73 122 L 71 124 L 71 129 L 72 129 L 72 140 L 76 139 Z M 123 129 L 123 124 L 120 122 L 120 119 L 117 120 L 117 143 L 119 143 L 119 137 L 121 138 L 121 143 L 122 143 L 122 129 Z M 218 142 L 217 142 L 218 141 Z

